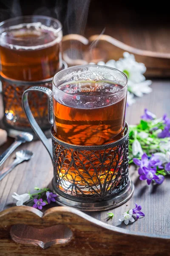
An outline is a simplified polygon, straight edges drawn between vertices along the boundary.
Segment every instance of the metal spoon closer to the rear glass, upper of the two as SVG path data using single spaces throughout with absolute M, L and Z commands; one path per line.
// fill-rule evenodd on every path
M 8 136 L 14 137 L 14 135 L 10 132 L 8 133 Z M 17 148 L 19 145 L 25 142 L 30 142 L 33 140 L 33 135 L 28 132 L 21 132 L 20 134 L 15 136 L 15 141 L 9 146 L 9 148 L 6 149 L 3 154 L 0 155 L 0 166 L 5 162 L 5 160 L 10 156 L 10 154 Z

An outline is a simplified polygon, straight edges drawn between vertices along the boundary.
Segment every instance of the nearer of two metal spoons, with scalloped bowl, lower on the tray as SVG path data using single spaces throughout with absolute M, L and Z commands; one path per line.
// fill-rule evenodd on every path
M 0 180 L 2 180 L 9 172 L 11 172 L 19 163 L 30 160 L 33 153 L 28 150 L 20 150 L 16 152 L 16 159 L 6 168 L 0 171 Z

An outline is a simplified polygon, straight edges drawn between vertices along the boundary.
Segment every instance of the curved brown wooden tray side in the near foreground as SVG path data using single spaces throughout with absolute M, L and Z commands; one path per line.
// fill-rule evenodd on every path
M 59 236 L 52 231 L 56 229 L 57 224 L 63 223 L 72 232 L 71 236 L 65 236 L 68 237 L 65 241 L 63 234 L 60 234 L 61 239 L 59 239 Z M 31 236 L 31 234 L 26 237 L 26 232 L 24 232 L 26 227 L 23 226 L 22 230 L 22 224 L 30 225 L 31 230 L 35 227 L 46 228 L 45 230 L 47 230 L 47 227 L 50 228 L 50 233 L 53 233 L 53 236 L 48 234 L 51 244 L 49 241 L 38 243 L 41 238 L 41 230 L 39 230 L 39 234 L 37 233 L 37 238 L 35 235 Z M 20 232 L 17 232 L 19 228 Z M 9 231 L 11 236 L 15 240 L 18 238 L 17 241 L 20 241 L 20 243 L 9 240 L 7 235 Z M 25 238 L 22 239 L 22 236 L 25 236 Z M 13 207 L 0 213 L 0 251 L 2 256 L 42 256 L 47 255 L 47 253 L 49 256 L 168 256 L 169 241 L 170 236 L 158 237 L 113 227 L 90 218 L 85 213 L 71 207 L 54 207 L 48 209 L 44 214 L 32 207 Z M 35 245 L 39 246 L 36 247 Z M 45 245 L 48 248 L 42 250 Z M 163 254 L 158 253 L 160 248 Z

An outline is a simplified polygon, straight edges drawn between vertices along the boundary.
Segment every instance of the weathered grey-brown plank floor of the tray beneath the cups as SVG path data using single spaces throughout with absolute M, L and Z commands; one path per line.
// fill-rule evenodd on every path
M 144 108 L 148 108 L 158 117 L 164 113 L 170 116 L 170 81 L 153 81 L 152 88 L 152 93 L 144 95 L 142 98 L 136 98 L 136 103 L 127 108 L 126 120 L 129 124 L 139 122 Z M 2 111 L 2 107 L 0 109 Z M 9 139 L 8 143 L 1 146 L 0 153 L 11 142 L 12 139 Z M 13 192 L 23 194 L 30 191 L 33 193 L 35 186 L 40 188 L 46 187 L 53 177 L 50 157 L 40 141 L 21 145 L 18 149 L 31 150 L 34 152 L 34 157 L 28 162 L 21 163 L 0 181 L 0 211 L 15 205 L 15 200 L 11 197 Z M 14 156 L 15 153 L 6 160 L 1 168 L 8 166 L 14 159 Z M 145 181 L 140 181 L 137 170 L 133 167 L 130 167 L 130 177 L 135 184 L 135 192 L 126 204 L 113 210 L 88 212 L 88 214 L 98 220 L 127 230 L 139 230 L 157 235 L 170 234 L 170 177 L 165 179 L 163 185 L 156 188 L 148 186 Z M 135 202 L 142 205 L 145 217 L 127 226 L 121 224 L 119 218 L 125 211 L 133 208 Z M 108 220 L 107 212 L 113 212 L 115 214 L 113 220 Z

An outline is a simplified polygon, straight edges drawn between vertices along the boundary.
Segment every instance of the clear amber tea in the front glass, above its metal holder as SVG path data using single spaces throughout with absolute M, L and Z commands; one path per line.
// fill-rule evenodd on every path
M 117 99 L 116 95 L 110 96 L 122 89 L 120 84 L 81 82 L 59 89 L 73 95 L 72 102 L 66 94 L 57 101 L 54 93 L 54 131 L 59 140 L 74 145 L 103 145 L 122 137 L 126 95 Z M 88 96 L 93 96 L 93 102 Z

